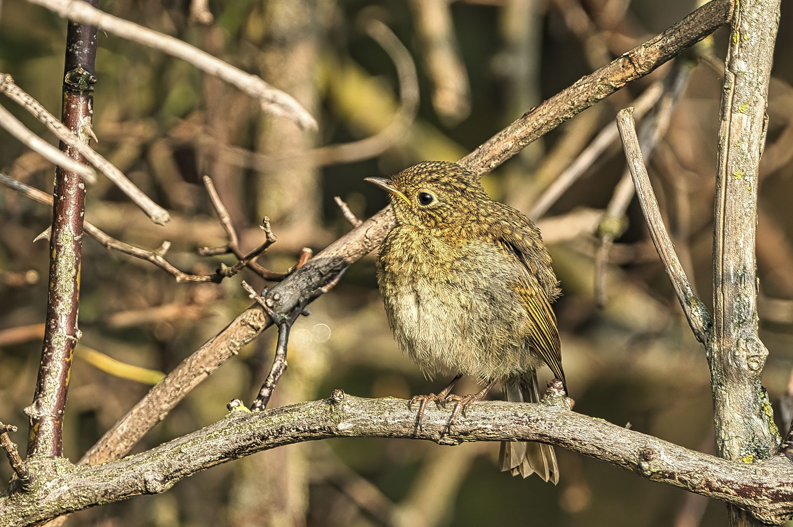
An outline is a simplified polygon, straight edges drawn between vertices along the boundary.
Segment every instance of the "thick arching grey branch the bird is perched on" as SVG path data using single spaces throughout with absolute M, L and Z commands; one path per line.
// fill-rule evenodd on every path
M 421 430 L 404 399 L 330 399 L 266 412 L 232 411 L 202 430 L 122 460 L 75 467 L 36 460 L 40 482 L 27 495 L 0 495 L 0 526 L 17 527 L 100 503 L 170 489 L 179 479 L 261 450 L 329 437 L 402 437 L 463 441 L 542 441 L 626 468 L 643 477 L 734 503 L 768 523 L 793 514 L 793 464 L 776 456 L 757 464 L 684 449 L 602 419 L 570 411 L 563 397 L 543 403 L 474 403 L 449 426 L 450 411 L 427 407 Z M 57 468 L 57 470 L 55 470 Z M 12 503 L 13 502 L 13 503 Z

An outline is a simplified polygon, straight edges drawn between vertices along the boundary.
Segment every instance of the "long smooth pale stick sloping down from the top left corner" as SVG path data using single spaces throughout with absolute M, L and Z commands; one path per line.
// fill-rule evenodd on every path
M 317 128 L 316 120 L 292 96 L 275 89 L 261 78 L 245 73 L 173 36 L 163 35 L 133 22 L 113 17 L 86 5 L 82 0 L 28 0 L 28 2 L 44 6 L 71 21 L 98 26 L 113 35 L 178 57 L 256 97 L 262 101 L 262 109 L 267 112 L 289 117 L 301 128 L 311 130 Z

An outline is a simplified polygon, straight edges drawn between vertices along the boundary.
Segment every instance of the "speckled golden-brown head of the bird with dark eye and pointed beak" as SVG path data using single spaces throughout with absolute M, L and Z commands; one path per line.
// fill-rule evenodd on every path
M 479 178 L 454 162 L 420 162 L 393 178 L 366 181 L 388 191 L 397 221 L 414 227 L 460 227 L 490 199 Z

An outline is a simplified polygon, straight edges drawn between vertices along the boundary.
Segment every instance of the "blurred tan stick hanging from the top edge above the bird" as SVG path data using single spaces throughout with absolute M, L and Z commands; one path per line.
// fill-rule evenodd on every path
M 471 111 L 468 73 L 458 52 L 451 6 L 446 0 L 411 0 L 416 32 L 422 40 L 432 106 L 444 120 L 457 123 Z

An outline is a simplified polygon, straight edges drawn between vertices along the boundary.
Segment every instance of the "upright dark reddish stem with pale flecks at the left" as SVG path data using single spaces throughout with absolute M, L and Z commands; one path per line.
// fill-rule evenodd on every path
M 97 7 L 98 0 L 86 0 Z M 81 139 L 92 135 L 94 97 L 91 94 L 96 59 L 97 29 L 69 22 L 66 61 L 63 69 L 63 111 L 61 120 Z M 85 162 L 77 151 L 60 143 L 71 158 Z M 30 418 L 29 456 L 60 456 L 63 450 L 63 410 L 69 388 L 71 358 L 79 339 L 80 262 L 82 260 L 82 220 L 86 188 L 82 179 L 57 169 L 50 236 L 49 291 L 41 365 Z

